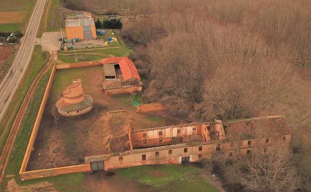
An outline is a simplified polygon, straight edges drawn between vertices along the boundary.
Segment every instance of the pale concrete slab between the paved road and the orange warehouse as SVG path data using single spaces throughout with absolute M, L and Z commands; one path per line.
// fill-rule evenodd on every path
M 65 37 L 65 32 L 63 32 L 63 37 Z M 61 32 L 45 32 L 41 37 L 41 46 L 42 51 L 57 51 L 60 49 L 61 41 Z

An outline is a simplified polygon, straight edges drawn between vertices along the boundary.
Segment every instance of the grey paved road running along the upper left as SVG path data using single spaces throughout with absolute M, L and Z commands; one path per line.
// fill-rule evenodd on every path
M 31 59 L 45 1 L 46 0 L 37 0 L 15 59 L 0 84 L 0 119 L 3 117 Z

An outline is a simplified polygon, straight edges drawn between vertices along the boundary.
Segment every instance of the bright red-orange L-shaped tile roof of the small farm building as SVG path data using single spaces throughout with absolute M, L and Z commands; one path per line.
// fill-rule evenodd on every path
M 102 59 L 102 64 L 118 63 L 124 80 L 132 78 L 141 79 L 131 59 L 128 57 L 109 57 Z

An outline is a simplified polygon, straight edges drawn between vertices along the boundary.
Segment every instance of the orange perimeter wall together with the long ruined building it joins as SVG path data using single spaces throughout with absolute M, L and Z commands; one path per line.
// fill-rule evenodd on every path
M 25 171 L 55 71 L 63 68 L 95 65 L 101 65 L 101 62 L 62 64 L 53 67 L 19 171 L 21 181 L 60 174 L 91 172 L 92 164 L 101 162 L 104 165 L 103 170 L 107 171 L 147 164 L 180 164 L 183 161 L 196 162 L 201 159 L 209 159 L 218 152 L 232 154 L 233 148 L 228 142 L 227 135 L 235 131 L 245 133 L 248 136 L 241 139 L 240 151 L 244 155 L 251 154 L 257 141 L 261 141 L 263 146 L 267 146 L 268 150 L 273 145 L 280 143 L 289 146 L 291 130 L 283 116 L 250 118 L 228 122 L 215 120 L 206 123 L 191 123 L 140 130 L 134 130 L 134 127 L 129 123 L 128 136 L 131 146 L 129 151 L 120 153 L 110 152 L 109 154 L 86 157 L 85 164 L 78 166 Z M 258 126 L 265 128 L 265 134 L 256 138 L 252 128 Z

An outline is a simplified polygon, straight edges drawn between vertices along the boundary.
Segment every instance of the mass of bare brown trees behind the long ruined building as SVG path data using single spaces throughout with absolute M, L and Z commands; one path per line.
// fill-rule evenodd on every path
M 310 190 L 311 2 L 142 5 L 149 15 L 122 34 L 137 45 L 131 56 L 146 79 L 144 100 L 166 102 L 173 114 L 196 121 L 285 115 L 293 131 L 290 163 L 301 176 L 299 190 Z

